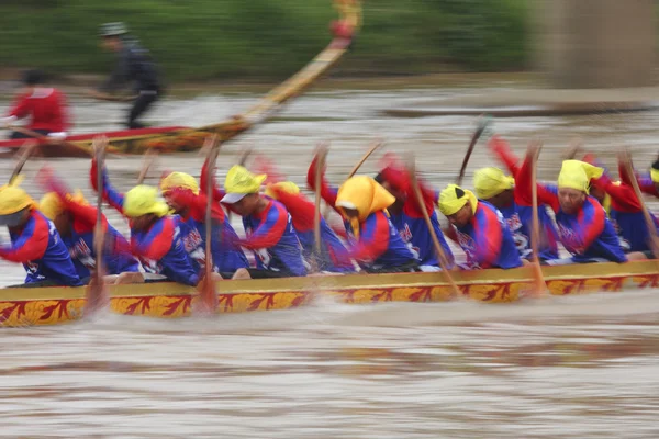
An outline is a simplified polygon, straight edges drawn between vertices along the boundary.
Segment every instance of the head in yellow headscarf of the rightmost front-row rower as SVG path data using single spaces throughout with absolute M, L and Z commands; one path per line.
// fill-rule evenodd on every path
M 558 175 L 558 202 L 568 215 L 579 212 L 589 194 L 590 181 L 604 169 L 580 160 L 565 160 Z

